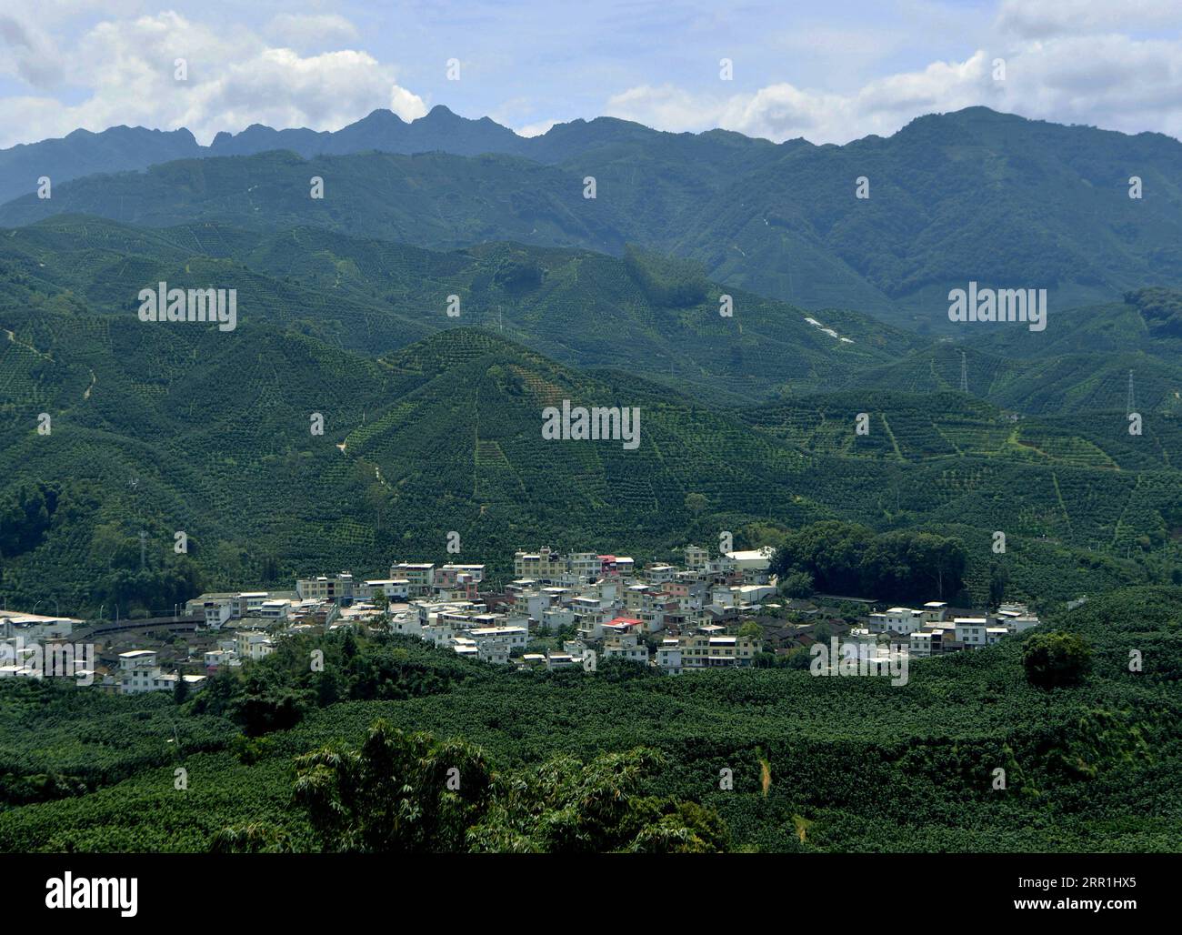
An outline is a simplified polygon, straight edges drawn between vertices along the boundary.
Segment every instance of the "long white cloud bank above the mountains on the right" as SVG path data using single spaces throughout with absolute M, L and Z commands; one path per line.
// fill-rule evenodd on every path
M 1006 78 L 993 79 L 993 60 Z M 610 116 L 663 130 L 722 126 L 777 142 L 845 143 L 895 132 L 923 113 L 986 105 L 1061 123 L 1182 137 L 1182 41 L 1063 35 L 978 50 L 962 61 L 876 78 L 847 93 L 771 84 L 754 92 L 693 93 L 638 85 L 608 100 Z

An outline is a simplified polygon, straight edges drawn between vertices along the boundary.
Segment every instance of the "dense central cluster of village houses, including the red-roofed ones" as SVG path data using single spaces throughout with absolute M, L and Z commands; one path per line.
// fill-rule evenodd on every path
M 186 610 L 210 629 L 226 625 L 267 632 L 376 625 L 416 636 L 456 654 L 520 667 L 592 668 L 597 658 L 628 658 L 669 671 L 746 665 L 759 641 L 728 635 L 745 612 L 775 593 L 768 582 L 771 550 L 710 558 L 686 550 L 687 567 L 654 563 L 636 571 L 626 556 L 560 554 L 551 548 L 514 554 L 517 578 L 504 592 L 483 592 L 485 565 L 396 561 L 388 578 L 355 579 L 348 572 L 300 578 L 294 595 L 253 591 L 209 593 Z M 384 608 L 384 611 L 383 611 Z M 563 651 L 526 652 L 531 632 L 574 629 Z M 651 658 L 645 637 L 665 634 Z M 713 641 L 713 642 L 712 642 Z M 213 665 L 240 664 L 236 650 L 207 654 Z

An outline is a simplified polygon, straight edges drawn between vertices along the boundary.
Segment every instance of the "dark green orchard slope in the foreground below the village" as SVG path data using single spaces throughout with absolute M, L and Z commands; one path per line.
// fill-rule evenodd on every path
M 654 797 L 642 810 L 647 822 L 682 803 L 680 820 L 713 829 L 713 848 L 1173 851 L 1182 822 L 1180 606 L 1178 589 L 1148 587 L 1054 615 L 1040 630 L 1083 637 L 1091 671 L 1052 689 L 1030 683 L 1024 639 L 915 661 L 903 687 L 782 668 L 680 678 L 626 663 L 595 678 L 515 673 L 414 642 L 358 645 L 339 636 L 322 644 L 323 673 L 309 671 L 311 644 L 296 641 L 245 677 L 219 676 L 180 708 L 161 695 L 108 699 L 9 680 L 0 683 L 0 850 L 338 849 L 314 831 L 309 798 L 296 794 L 297 768 L 307 765 L 296 758 L 356 747 L 382 719 L 476 745 L 487 764 L 480 775 L 487 768 L 520 783 L 522 806 L 528 784 L 551 774 L 557 788 L 539 791 L 539 822 L 524 827 L 545 849 L 599 840 L 573 833 L 595 827 L 597 809 L 557 811 L 559 778 L 578 777 L 573 760 L 593 764 L 583 773 L 585 801 L 622 783 L 629 798 Z M 1142 671 L 1130 671 L 1131 650 Z M 260 720 L 278 710 L 288 713 L 281 726 Z M 59 726 L 50 738 L 46 713 Z M 123 739 L 121 719 L 139 721 L 136 742 Z M 178 745 L 165 741 L 170 725 Z M 613 771 L 597 760 L 634 748 L 656 755 L 628 771 L 626 757 Z M 467 748 L 450 749 L 443 762 L 461 754 L 472 762 Z M 424 767 L 440 759 L 424 757 Z M 174 787 L 181 765 L 184 791 Z M 733 771 L 733 790 L 722 787 L 722 770 Z M 423 805 L 426 822 L 435 812 Z M 379 826 L 378 813 L 369 817 Z M 571 833 L 547 842 L 554 823 Z M 424 845 L 410 833 L 388 846 L 430 849 L 433 839 Z M 487 836 L 461 840 L 461 849 L 496 846 Z M 517 836 L 493 840 L 531 846 Z

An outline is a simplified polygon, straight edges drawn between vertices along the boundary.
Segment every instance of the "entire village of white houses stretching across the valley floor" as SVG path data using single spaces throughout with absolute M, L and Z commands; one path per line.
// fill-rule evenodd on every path
M 518 669 L 597 670 L 624 660 L 669 675 L 785 664 L 826 641 L 862 658 L 939 656 L 991 645 L 1039 624 L 1025 604 L 991 613 L 931 600 L 873 610 L 868 598 L 788 599 L 772 550 L 689 545 L 681 564 L 637 567 L 625 556 L 513 556 L 513 580 L 492 589 L 482 564 L 395 561 L 385 578 L 349 572 L 299 578 L 294 591 L 204 593 L 183 617 L 98 625 L 0 611 L 0 677 L 71 675 L 117 694 L 200 690 L 225 668 L 275 650 L 285 636 L 342 628 L 390 634 Z M 807 655 L 805 655 L 807 658 Z

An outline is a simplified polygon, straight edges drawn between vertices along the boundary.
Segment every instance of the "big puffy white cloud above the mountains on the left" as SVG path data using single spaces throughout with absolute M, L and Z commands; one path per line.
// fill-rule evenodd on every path
M 13 35 L 9 48 L 35 45 L 35 37 Z M 187 61 L 184 82 L 174 78 L 177 58 Z M 187 126 L 208 143 L 219 130 L 252 123 L 337 130 L 377 108 L 404 119 L 427 112 L 422 98 L 397 84 L 394 66 L 368 52 L 301 54 L 245 30 L 214 30 L 173 12 L 98 22 L 57 60 L 66 63 L 59 79 L 90 89 L 90 96 L 70 104 L 0 98 L 0 147 L 79 126 Z

